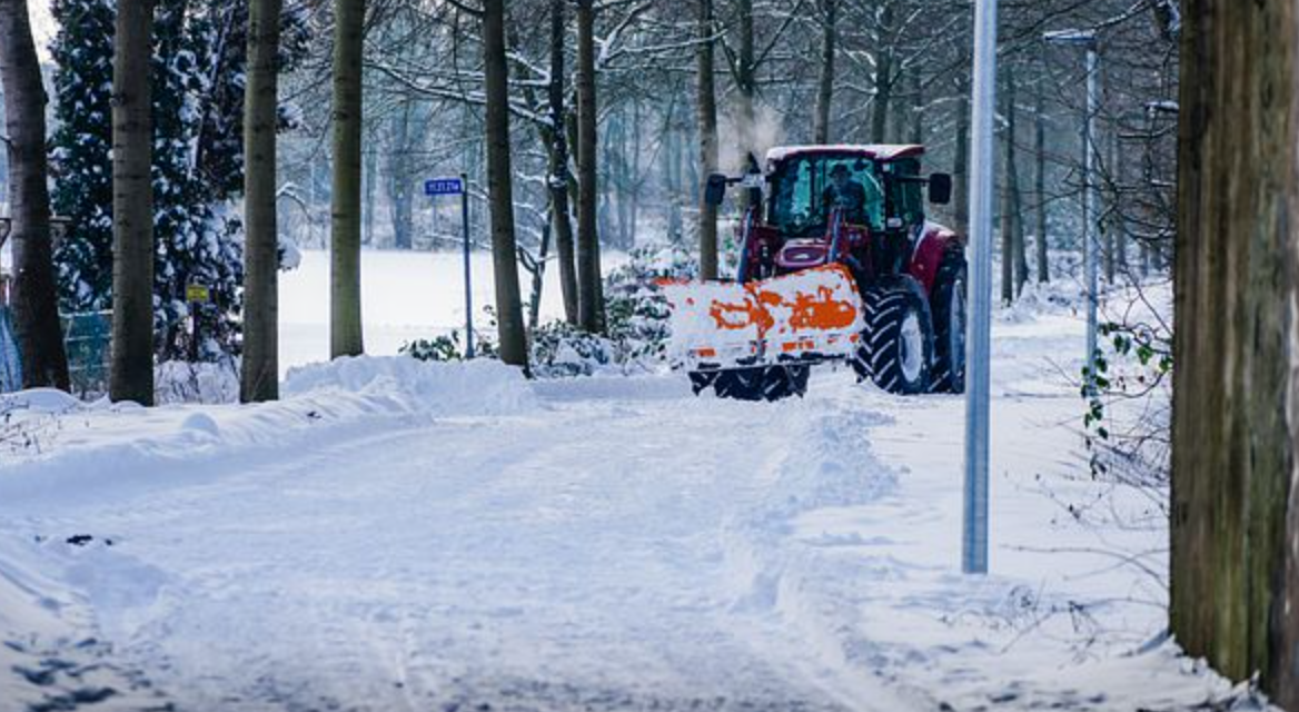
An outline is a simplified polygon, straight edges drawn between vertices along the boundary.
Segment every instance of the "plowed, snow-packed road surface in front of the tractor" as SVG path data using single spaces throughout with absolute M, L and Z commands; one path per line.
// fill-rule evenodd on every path
M 109 498 L 75 521 L 113 530 L 170 579 L 157 600 L 97 615 L 127 659 L 196 708 L 887 699 L 827 667 L 786 629 L 786 609 L 735 605 L 737 521 L 778 515 L 744 531 L 776 546 L 800 508 L 869 494 L 859 486 L 879 473 L 851 460 L 859 448 L 837 455 L 864 416 L 666 396 L 661 382 L 582 383 L 521 416 L 443 418 Z M 813 500 L 781 509 L 807 487 Z

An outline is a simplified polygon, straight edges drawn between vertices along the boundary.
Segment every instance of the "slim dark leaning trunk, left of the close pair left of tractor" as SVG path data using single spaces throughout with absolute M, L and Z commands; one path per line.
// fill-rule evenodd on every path
M 573 220 L 569 212 L 572 173 L 569 172 L 569 144 L 564 112 L 564 4 L 566 1 L 551 0 L 551 84 L 548 87 L 551 126 L 546 134 L 549 136 L 551 225 L 555 231 L 555 252 L 560 262 L 564 317 L 569 324 L 577 324 L 577 264 L 573 246 Z

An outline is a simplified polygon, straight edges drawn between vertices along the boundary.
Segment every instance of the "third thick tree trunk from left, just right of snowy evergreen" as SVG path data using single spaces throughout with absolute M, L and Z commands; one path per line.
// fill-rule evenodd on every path
M 275 118 L 282 0 L 248 5 L 244 84 L 244 352 L 239 399 L 279 398 L 279 240 L 275 220 Z

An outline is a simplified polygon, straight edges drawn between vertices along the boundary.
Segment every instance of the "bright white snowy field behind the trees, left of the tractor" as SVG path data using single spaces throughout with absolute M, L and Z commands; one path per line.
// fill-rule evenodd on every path
M 279 365 L 292 366 L 329 359 L 330 253 L 301 253 L 299 269 L 279 277 Z M 626 261 L 621 252 L 605 252 L 609 272 Z M 459 252 L 365 249 L 361 252 L 361 309 L 365 348 L 392 355 L 407 342 L 465 329 L 464 257 Z M 495 304 L 491 253 L 472 255 L 474 330 L 491 334 L 483 307 Z M 523 299 L 531 296 L 531 274 L 520 269 Z M 555 270 L 542 292 L 542 321 L 562 318 L 564 301 Z M 495 334 L 492 334 L 495 338 Z

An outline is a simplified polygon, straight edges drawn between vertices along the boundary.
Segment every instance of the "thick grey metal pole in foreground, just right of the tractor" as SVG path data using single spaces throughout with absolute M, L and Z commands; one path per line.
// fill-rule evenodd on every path
M 970 320 L 965 362 L 965 505 L 961 570 L 987 573 L 989 379 L 992 331 L 992 120 L 996 112 L 996 0 L 974 3 L 970 120 Z

